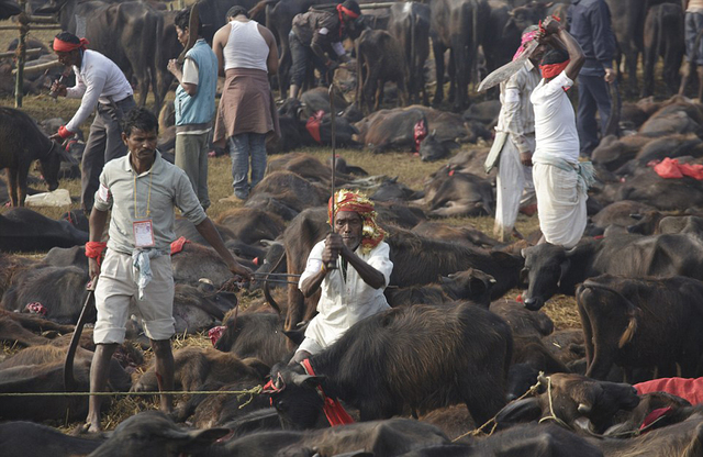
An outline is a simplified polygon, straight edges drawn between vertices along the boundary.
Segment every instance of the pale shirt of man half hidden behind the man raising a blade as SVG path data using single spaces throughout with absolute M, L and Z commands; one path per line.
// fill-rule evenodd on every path
M 501 82 L 501 112 L 495 130 L 507 133 L 521 153 L 532 153 L 525 138 L 535 132 L 535 111 L 529 96 L 540 79 L 539 69 L 527 59 L 523 68 Z

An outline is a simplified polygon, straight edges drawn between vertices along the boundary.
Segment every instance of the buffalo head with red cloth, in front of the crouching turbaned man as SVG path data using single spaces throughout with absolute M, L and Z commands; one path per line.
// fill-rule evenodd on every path
M 283 430 L 315 427 L 323 406 L 316 388 L 323 380 L 324 377 L 305 374 L 300 364 L 277 364 L 271 368 L 271 380 L 265 392 L 271 395 L 271 404 L 278 411 Z

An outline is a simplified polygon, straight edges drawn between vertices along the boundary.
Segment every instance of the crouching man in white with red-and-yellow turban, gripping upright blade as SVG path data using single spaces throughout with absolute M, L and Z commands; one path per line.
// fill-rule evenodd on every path
M 291 364 L 320 353 L 358 321 L 390 308 L 383 289 L 393 264 L 386 233 L 376 225 L 373 203 L 342 189 L 330 200 L 327 212 L 334 233 L 313 246 L 299 282 L 305 297 L 322 289 L 319 314 L 310 321 Z

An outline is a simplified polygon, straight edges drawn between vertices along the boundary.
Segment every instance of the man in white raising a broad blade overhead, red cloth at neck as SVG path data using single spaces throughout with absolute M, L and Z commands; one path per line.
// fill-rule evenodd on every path
M 536 148 L 532 161 L 543 242 L 574 246 L 585 228 L 590 163 L 579 163 L 579 134 L 567 90 L 583 66 L 581 46 L 557 21 L 545 21 L 539 38 L 555 49 L 542 59 L 543 80 L 532 92 Z M 563 52 L 566 48 L 566 53 Z

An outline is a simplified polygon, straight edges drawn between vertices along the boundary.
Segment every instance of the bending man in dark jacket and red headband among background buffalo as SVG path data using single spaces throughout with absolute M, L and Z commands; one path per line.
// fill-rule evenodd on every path
M 293 27 L 289 35 L 293 59 L 291 99 L 298 97 L 309 64 L 331 70 L 336 67 L 337 59 L 349 60 L 342 42 L 346 38 L 348 25 L 360 15 L 361 9 L 356 0 L 346 0 L 337 4 L 333 11 L 311 8 L 310 11 L 293 18 Z

